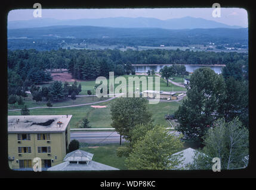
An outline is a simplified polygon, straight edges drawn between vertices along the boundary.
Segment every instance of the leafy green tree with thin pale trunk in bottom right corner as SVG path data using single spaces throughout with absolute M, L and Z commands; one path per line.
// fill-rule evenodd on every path
M 212 169 L 212 159 L 220 158 L 221 169 L 244 167 L 249 154 L 249 132 L 238 118 L 218 119 L 204 137 L 205 147 L 195 154 L 190 169 Z

